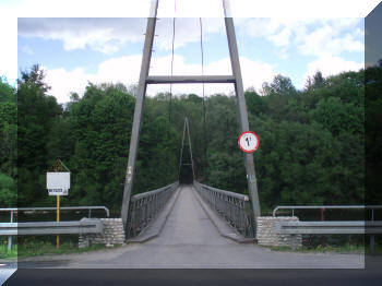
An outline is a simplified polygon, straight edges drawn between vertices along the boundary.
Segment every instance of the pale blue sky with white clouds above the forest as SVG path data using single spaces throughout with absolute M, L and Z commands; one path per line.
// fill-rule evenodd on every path
M 184 11 L 190 10 L 189 3 L 177 0 L 175 74 L 201 74 L 199 19 L 180 17 Z M 211 7 L 207 10 L 223 14 L 220 1 L 208 3 Z M 147 1 L 145 4 L 143 10 L 148 9 Z M 238 8 L 234 8 L 232 5 L 235 16 L 234 12 Z M 159 17 L 160 13 L 167 15 L 166 11 L 174 15 L 174 0 L 159 1 Z M 362 13 L 367 14 L 365 11 Z M 325 15 L 321 12 L 322 14 Z M 146 27 L 145 17 L 29 17 L 28 13 L 22 15 L 17 20 L 17 70 L 26 70 L 34 63 L 44 67 L 46 80 L 52 86 L 50 93 L 59 103 L 68 102 L 70 92 L 82 94 L 87 82 L 122 82 L 126 85 L 138 82 Z M 289 76 L 297 88 L 302 88 L 307 76 L 318 70 L 324 75 L 330 75 L 362 68 L 365 15 L 355 16 L 354 12 L 349 12 L 348 15 L 351 16 L 346 17 L 319 15 L 320 12 L 318 17 L 310 15 L 305 19 L 298 15 L 235 17 L 244 87 L 260 90 L 263 82 L 270 82 L 275 74 L 280 73 Z M 231 73 L 224 19 L 203 17 L 202 23 L 204 73 Z M 169 74 L 172 19 L 160 17 L 155 34 L 157 36 L 154 40 L 150 73 Z M 12 80 L 12 76 L 8 78 Z M 152 85 L 147 93 L 153 95 L 168 91 L 168 85 Z M 172 91 L 201 94 L 202 85 L 174 85 Z M 232 86 L 229 84 L 206 85 L 207 94 L 231 91 Z

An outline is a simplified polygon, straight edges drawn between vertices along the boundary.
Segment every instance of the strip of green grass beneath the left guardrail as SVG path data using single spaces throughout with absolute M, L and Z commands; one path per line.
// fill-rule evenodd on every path
M 112 248 L 117 248 L 114 246 Z M 88 251 L 106 249 L 105 245 L 92 245 L 87 248 L 79 248 L 77 243 L 63 242 L 60 248 L 57 249 L 56 245 L 44 241 L 28 241 L 23 245 L 14 245 L 12 250 L 8 250 L 7 245 L 0 246 L 0 259 L 17 259 L 28 258 L 45 254 L 69 254 L 69 253 L 83 253 Z M 107 248 L 109 249 L 109 248 Z

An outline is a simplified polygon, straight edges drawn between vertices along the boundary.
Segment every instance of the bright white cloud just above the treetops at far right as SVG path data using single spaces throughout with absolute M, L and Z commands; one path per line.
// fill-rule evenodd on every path
M 314 75 L 317 71 L 321 71 L 323 76 L 329 76 L 344 71 L 359 71 L 362 68 L 362 62 L 347 61 L 339 57 L 324 56 L 308 63 L 308 69 L 303 79 L 306 82 L 308 76 Z

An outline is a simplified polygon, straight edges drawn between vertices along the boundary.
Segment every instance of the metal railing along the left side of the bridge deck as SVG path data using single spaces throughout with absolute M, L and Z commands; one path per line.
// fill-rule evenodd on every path
M 178 186 L 179 182 L 176 181 L 160 189 L 131 196 L 126 231 L 128 238 L 138 236 L 157 216 Z

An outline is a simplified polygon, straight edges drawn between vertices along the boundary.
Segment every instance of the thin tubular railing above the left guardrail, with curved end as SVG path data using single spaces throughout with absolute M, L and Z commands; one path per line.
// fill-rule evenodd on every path
M 10 212 L 10 223 L 12 224 L 14 222 L 14 213 L 17 212 L 28 212 L 28 211 L 56 211 L 57 207 L 7 207 L 7 208 L 0 208 L 0 212 Z M 92 217 L 92 210 L 104 210 L 106 212 L 107 217 L 110 216 L 110 211 L 106 206 L 62 206 L 60 207 L 61 211 L 77 211 L 77 210 L 88 210 L 88 218 Z M 8 237 L 8 249 L 12 249 L 12 240 L 13 237 Z

